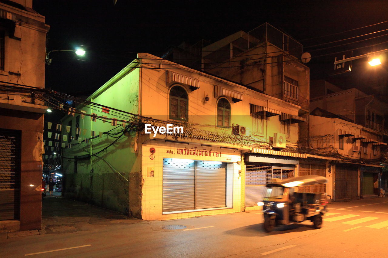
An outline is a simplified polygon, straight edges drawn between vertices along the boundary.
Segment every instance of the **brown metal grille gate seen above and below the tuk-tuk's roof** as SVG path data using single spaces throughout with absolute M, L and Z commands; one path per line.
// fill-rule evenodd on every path
M 321 175 L 326 177 L 326 165 L 312 164 L 312 163 L 299 163 L 298 176 L 302 175 Z M 298 187 L 298 192 L 308 193 L 326 193 L 326 184 L 316 184 L 313 186 L 301 186 Z

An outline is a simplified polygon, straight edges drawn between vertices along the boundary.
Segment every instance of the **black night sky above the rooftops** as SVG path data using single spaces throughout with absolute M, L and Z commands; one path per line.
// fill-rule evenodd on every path
M 76 45 L 84 45 L 88 51 L 83 60 L 78 60 L 81 58 L 71 52 L 50 54 L 52 65 L 46 65 L 46 88 L 71 95 L 90 95 L 130 63 L 135 53 L 148 52 L 161 56 L 170 46 L 177 46 L 183 41 L 192 44 L 201 39 L 214 42 L 239 30 L 248 32 L 264 22 L 282 29 L 301 41 L 304 47 L 388 29 L 387 22 L 348 33 L 305 40 L 386 21 L 387 1 L 118 0 L 114 5 L 112 0 L 34 0 L 33 3 L 33 8 L 45 15 L 46 24 L 51 26 L 47 36 L 48 51 L 73 49 Z M 369 37 L 384 34 L 388 34 L 388 31 Z M 305 48 L 304 51 L 365 38 L 368 37 Z M 314 57 L 385 41 L 388 41 L 386 35 L 310 53 Z M 355 51 L 353 55 L 385 48 L 388 48 L 388 43 Z M 329 76 L 333 72 L 333 61 L 333 55 L 313 58 L 308 63 L 311 78 L 327 79 L 342 84 L 340 86 L 343 88 L 352 88 L 349 83 L 352 80 L 365 84 L 359 78 L 355 79 L 357 76 L 373 77 L 377 80 L 374 88 L 380 89 L 380 84 L 384 84 L 387 77 L 386 65 L 376 68 L 378 70 L 365 71 L 365 59 L 354 62 L 351 73 Z M 376 79 L 376 73 L 380 79 Z M 365 91 L 373 93 L 372 88 L 369 85 Z M 385 85 L 385 88 L 388 87 Z

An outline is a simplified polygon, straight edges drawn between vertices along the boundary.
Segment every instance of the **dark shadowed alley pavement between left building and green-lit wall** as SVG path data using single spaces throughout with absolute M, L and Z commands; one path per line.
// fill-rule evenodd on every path
M 135 224 L 141 222 L 121 213 L 99 208 L 87 203 L 62 198 L 54 192 L 42 201 L 42 229 L 40 234 L 97 232 L 114 223 Z

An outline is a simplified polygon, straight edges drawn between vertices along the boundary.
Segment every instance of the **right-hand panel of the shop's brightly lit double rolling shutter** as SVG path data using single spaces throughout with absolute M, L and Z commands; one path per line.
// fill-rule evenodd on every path
M 226 163 L 196 161 L 195 208 L 226 206 Z

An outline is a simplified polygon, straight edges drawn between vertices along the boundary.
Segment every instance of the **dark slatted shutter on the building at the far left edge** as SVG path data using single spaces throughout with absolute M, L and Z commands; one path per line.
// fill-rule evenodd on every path
M 0 220 L 19 218 L 21 133 L 0 129 Z

